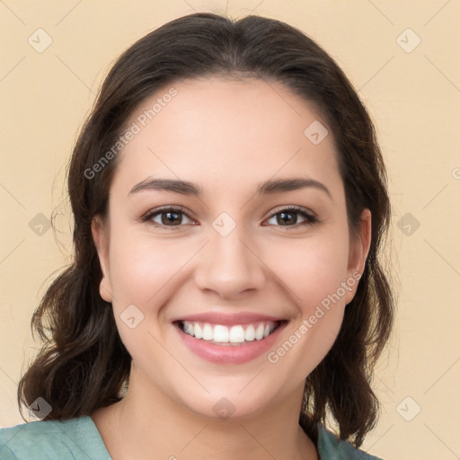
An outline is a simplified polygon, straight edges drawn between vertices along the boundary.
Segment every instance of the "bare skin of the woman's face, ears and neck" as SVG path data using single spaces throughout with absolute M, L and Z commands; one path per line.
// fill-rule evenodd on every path
M 271 348 L 278 349 L 325 297 L 362 273 L 370 213 L 351 240 L 332 132 L 319 145 L 305 137 L 315 119 L 325 121 L 284 85 L 213 77 L 173 87 L 173 100 L 119 154 L 108 217 L 93 221 L 101 296 L 133 358 L 127 396 L 93 420 L 117 460 L 316 459 L 298 425 L 305 378 L 331 349 L 358 283 L 274 364 L 266 353 L 244 364 L 208 362 L 171 321 L 210 311 L 286 318 Z M 256 194 L 261 181 L 302 175 L 331 197 L 314 187 Z M 147 177 L 192 181 L 204 194 L 129 193 Z M 162 227 L 162 215 L 140 221 L 167 205 L 185 208 L 179 229 Z M 296 226 L 305 217 L 295 214 L 283 226 L 277 213 L 289 205 L 313 212 L 318 223 Z M 212 226 L 222 212 L 236 225 L 225 237 Z M 133 304 L 144 320 L 130 329 L 120 314 Z M 223 397 L 234 406 L 226 420 L 213 410 Z

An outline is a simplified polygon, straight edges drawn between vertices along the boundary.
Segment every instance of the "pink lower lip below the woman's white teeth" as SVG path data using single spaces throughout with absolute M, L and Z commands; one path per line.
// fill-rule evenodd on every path
M 183 332 L 179 326 L 174 326 L 181 336 L 185 345 L 200 358 L 207 359 L 217 364 L 243 364 L 252 359 L 259 358 L 263 353 L 269 351 L 270 347 L 277 340 L 279 333 L 286 323 L 282 323 L 268 337 L 261 341 L 244 341 L 241 345 L 216 345 L 210 341 L 195 339 Z

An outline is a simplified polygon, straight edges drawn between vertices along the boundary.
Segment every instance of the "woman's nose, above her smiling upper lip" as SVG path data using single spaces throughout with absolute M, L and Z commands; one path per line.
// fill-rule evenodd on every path
M 226 236 L 214 229 L 199 254 L 195 280 L 202 290 L 211 290 L 223 299 L 234 299 L 263 288 L 267 266 L 252 239 L 240 226 Z

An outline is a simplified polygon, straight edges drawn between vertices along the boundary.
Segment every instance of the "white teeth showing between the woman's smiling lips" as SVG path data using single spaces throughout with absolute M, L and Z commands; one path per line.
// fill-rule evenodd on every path
M 263 341 L 285 323 L 288 321 L 259 321 L 226 326 L 195 321 L 177 321 L 175 325 L 181 332 L 199 341 L 208 341 L 222 346 L 241 346 L 253 341 Z

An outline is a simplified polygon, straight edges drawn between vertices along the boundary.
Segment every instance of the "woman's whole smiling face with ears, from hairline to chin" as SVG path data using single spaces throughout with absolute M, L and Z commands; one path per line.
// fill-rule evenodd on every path
M 299 404 L 356 292 L 370 215 L 350 241 L 332 132 L 284 85 L 171 86 L 128 120 L 93 226 L 130 385 L 210 417 Z

